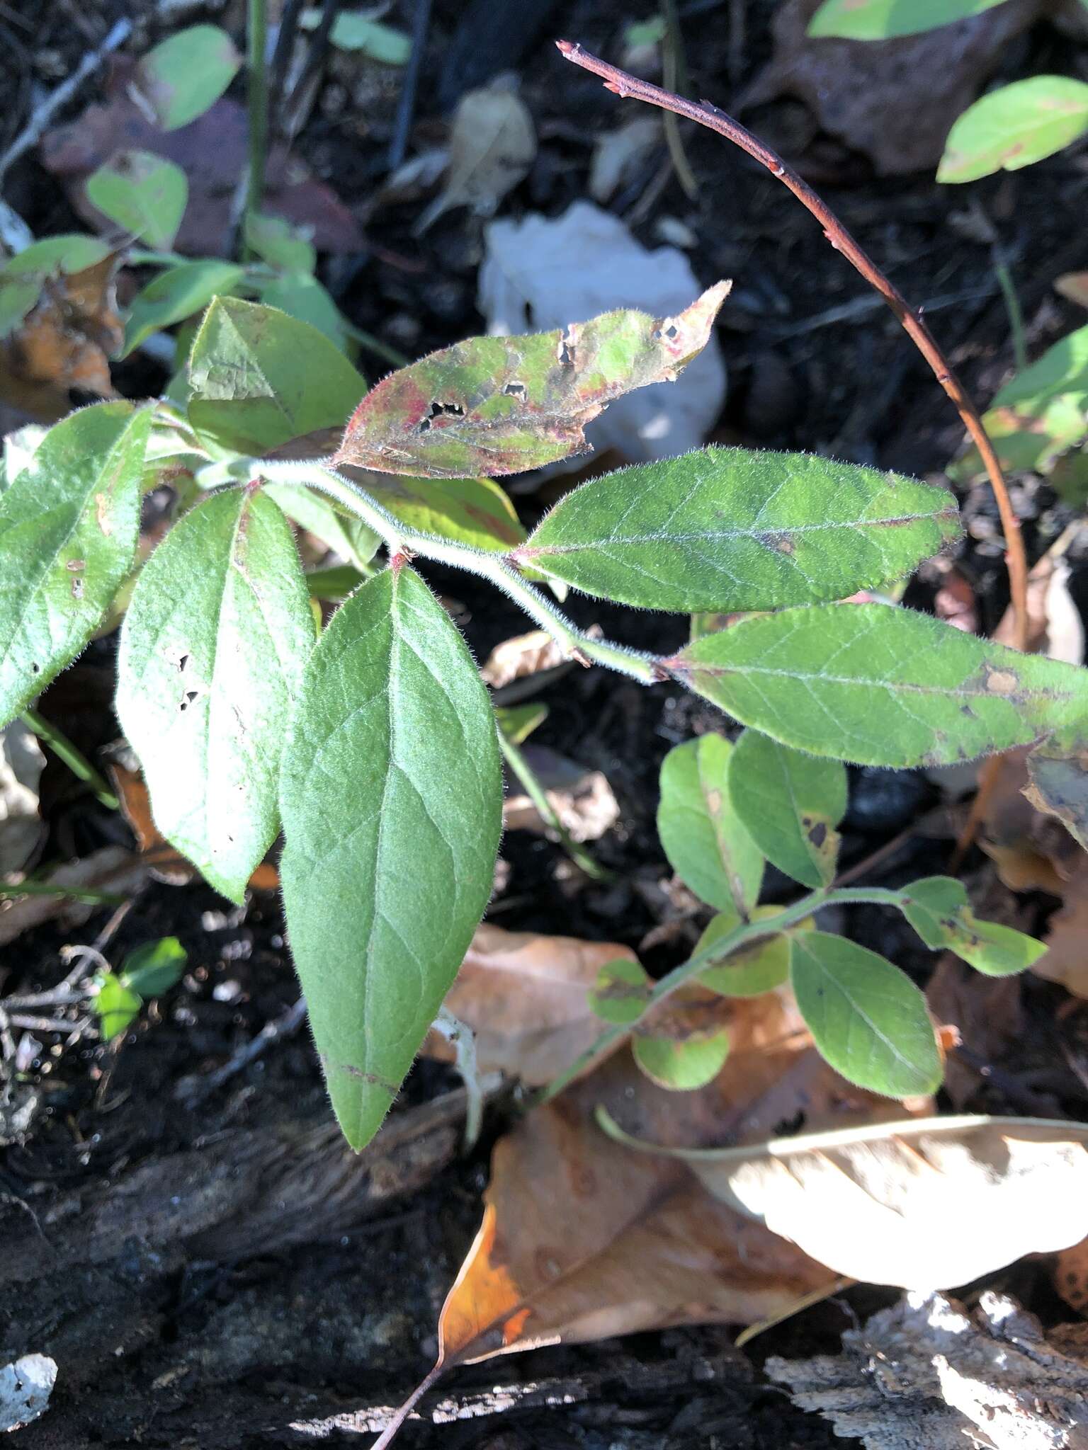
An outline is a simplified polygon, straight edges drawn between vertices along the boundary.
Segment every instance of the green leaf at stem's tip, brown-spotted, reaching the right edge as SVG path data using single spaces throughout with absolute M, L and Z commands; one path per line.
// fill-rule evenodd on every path
M 892 605 L 756 615 L 664 663 L 741 724 L 863 766 L 947 766 L 1088 718 L 1084 670 Z

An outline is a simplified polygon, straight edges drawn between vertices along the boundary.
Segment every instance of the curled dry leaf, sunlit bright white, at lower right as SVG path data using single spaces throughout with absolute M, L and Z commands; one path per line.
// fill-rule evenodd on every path
M 721 1202 L 867 1283 L 947 1289 L 1088 1234 L 1088 1125 L 1078 1122 L 918 1118 L 759 1148 L 659 1151 Z

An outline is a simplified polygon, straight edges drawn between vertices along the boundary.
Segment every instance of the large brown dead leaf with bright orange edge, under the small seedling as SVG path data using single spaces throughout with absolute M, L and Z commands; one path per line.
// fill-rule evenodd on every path
M 709 1086 L 664 1092 L 624 1048 L 499 1141 L 483 1225 L 442 1308 L 440 1364 L 675 1324 L 751 1324 L 831 1290 L 834 1275 L 715 1202 L 683 1163 L 632 1153 L 595 1125 L 603 1103 L 643 1137 L 699 1146 L 759 1138 L 798 1114 L 823 1125 L 901 1115 L 817 1057 L 788 993 L 725 1011 L 733 1051 Z

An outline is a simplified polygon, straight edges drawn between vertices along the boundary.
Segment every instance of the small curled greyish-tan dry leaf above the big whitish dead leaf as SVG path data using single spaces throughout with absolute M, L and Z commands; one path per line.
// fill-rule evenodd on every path
M 445 187 L 416 222 L 416 236 L 456 206 L 492 216 L 527 175 L 535 155 L 532 116 L 508 78 L 469 91 L 454 116 Z

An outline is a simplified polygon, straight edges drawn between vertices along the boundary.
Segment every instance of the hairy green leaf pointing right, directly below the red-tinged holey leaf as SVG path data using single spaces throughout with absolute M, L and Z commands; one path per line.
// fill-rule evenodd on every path
M 957 534 L 946 489 L 814 454 L 705 448 L 590 478 L 514 557 L 647 609 L 778 609 L 898 579 Z

